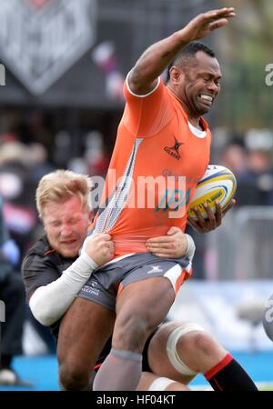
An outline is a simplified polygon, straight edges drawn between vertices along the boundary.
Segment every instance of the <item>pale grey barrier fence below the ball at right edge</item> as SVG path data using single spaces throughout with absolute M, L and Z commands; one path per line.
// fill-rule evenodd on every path
M 207 234 L 208 280 L 273 279 L 273 207 L 244 206 Z

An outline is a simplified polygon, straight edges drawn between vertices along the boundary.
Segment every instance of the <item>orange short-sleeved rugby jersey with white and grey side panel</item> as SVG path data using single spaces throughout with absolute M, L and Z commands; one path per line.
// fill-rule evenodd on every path
M 154 91 L 134 95 L 118 126 L 106 184 L 91 228 L 112 235 L 116 256 L 146 252 L 147 238 L 183 231 L 187 205 L 209 162 L 211 134 L 194 135 L 177 97 L 162 79 Z M 179 179 L 178 176 L 184 176 Z M 184 212 L 183 212 L 184 209 Z

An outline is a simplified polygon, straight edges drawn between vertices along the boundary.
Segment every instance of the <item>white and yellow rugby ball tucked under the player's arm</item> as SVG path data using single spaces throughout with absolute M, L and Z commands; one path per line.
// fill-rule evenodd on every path
M 197 220 L 193 209 L 197 207 L 204 217 L 207 213 L 203 207 L 204 203 L 210 207 L 213 213 L 216 212 L 215 201 L 217 200 L 222 210 L 225 210 L 235 195 L 237 182 L 235 175 L 225 166 L 208 165 L 206 174 L 197 183 L 195 195 L 192 197 L 187 215 Z

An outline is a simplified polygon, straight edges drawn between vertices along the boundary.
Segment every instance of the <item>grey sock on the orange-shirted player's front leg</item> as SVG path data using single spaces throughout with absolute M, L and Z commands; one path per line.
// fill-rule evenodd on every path
M 111 349 L 99 368 L 94 391 L 135 391 L 142 371 L 142 354 Z

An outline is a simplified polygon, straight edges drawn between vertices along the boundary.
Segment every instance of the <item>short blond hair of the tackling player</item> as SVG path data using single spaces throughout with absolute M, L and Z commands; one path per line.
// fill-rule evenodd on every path
M 56 170 L 42 177 L 36 189 L 36 207 L 40 216 L 43 215 L 45 205 L 54 202 L 61 204 L 71 197 L 78 197 L 82 205 L 91 209 L 90 190 L 91 178 L 87 175 L 76 174 L 68 170 Z

